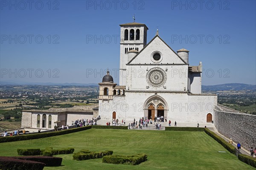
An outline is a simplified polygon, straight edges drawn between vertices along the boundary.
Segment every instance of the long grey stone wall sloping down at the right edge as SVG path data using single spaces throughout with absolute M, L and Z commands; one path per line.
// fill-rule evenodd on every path
M 256 115 L 232 113 L 215 108 L 214 125 L 218 132 L 247 150 L 256 147 Z

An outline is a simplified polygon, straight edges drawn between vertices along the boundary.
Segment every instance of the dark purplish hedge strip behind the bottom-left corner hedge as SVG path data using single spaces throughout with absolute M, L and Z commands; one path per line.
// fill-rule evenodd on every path
M 52 156 L 15 156 L 15 159 L 23 159 L 28 161 L 42 162 L 46 167 L 61 166 L 62 158 Z

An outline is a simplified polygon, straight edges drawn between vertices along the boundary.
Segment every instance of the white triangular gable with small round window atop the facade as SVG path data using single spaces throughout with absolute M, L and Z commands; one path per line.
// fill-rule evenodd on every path
M 161 59 L 155 61 L 152 56 L 159 52 Z M 178 54 L 156 35 L 148 44 L 134 57 L 129 64 L 186 64 Z

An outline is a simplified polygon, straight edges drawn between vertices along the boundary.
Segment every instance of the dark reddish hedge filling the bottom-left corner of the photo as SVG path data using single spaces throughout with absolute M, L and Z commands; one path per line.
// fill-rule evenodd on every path
M 43 170 L 46 164 L 37 161 L 15 159 L 13 157 L 0 157 L 1 170 Z

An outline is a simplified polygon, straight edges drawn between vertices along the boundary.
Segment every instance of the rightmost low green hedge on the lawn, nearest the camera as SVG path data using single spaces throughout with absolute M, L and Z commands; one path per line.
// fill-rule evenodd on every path
M 108 164 L 128 164 L 128 165 L 137 165 L 141 162 L 147 160 L 147 155 L 145 153 L 134 155 L 134 156 L 123 156 L 123 155 L 110 155 L 104 156 L 102 159 L 103 163 Z

